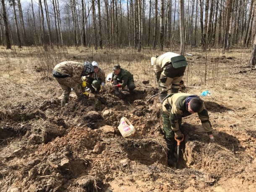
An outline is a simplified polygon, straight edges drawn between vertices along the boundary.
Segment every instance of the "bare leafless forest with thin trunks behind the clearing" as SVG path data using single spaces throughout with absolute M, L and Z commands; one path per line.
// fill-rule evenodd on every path
M 163 48 L 252 47 L 254 0 L 1 0 L 1 44 Z M 254 38 L 253 38 L 254 37 Z

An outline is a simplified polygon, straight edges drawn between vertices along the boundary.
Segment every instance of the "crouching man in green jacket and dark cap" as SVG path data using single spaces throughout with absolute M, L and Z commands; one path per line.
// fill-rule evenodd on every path
M 113 73 L 110 82 L 113 83 L 113 87 L 115 88 L 115 95 L 119 95 L 119 88 L 127 86 L 130 92 L 136 88 L 133 75 L 128 70 L 121 68 L 120 65 L 115 65 L 112 70 Z

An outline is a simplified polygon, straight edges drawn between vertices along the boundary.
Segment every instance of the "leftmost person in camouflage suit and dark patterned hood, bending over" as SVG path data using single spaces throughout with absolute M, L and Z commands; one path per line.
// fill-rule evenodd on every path
M 54 67 L 52 75 L 63 89 L 61 106 L 68 103 L 68 96 L 71 92 L 71 88 L 74 90 L 79 100 L 84 99 L 81 87 L 81 77 L 93 72 L 94 67 L 90 62 L 80 63 L 75 61 L 64 61 Z

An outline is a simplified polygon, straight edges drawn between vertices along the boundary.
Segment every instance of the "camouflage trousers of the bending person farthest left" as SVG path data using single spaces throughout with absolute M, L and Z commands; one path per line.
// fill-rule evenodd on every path
M 60 84 L 60 87 L 63 89 L 62 99 L 68 101 L 68 96 L 71 92 L 71 88 L 76 93 L 76 96 L 82 96 L 82 88 L 81 88 L 81 78 L 55 78 L 57 82 Z

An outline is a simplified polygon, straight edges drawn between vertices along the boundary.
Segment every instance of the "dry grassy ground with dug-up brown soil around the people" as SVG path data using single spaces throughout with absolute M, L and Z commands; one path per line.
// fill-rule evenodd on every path
M 165 52 L 170 50 L 165 50 Z M 178 50 L 172 50 L 177 52 Z M 189 52 L 185 86 L 200 95 L 214 128 L 215 143 L 197 114 L 183 118 L 179 169 L 167 166 L 158 92 L 150 57 L 144 49 L 92 51 L 62 48 L 43 52 L 0 47 L 1 192 L 255 192 L 256 70 L 251 50 L 224 55 Z M 61 88 L 52 78 L 59 62 L 93 60 L 107 74 L 117 62 L 134 74 L 134 93 L 114 95 L 110 82 L 99 94 L 77 101 L 71 92 L 60 107 Z M 136 132 L 123 138 L 126 117 Z

